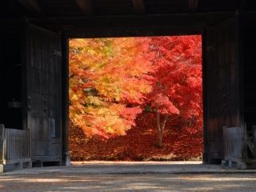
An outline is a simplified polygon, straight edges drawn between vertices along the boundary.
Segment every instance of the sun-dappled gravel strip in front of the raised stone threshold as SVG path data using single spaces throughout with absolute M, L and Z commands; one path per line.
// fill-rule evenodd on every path
M 256 175 L 26 174 L 0 177 L 0 191 L 256 191 Z

